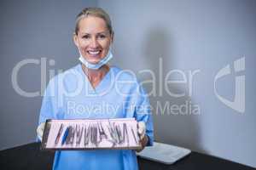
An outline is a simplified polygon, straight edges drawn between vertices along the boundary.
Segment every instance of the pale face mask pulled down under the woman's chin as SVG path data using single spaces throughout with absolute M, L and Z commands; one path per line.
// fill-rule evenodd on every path
M 111 53 L 111 48 L 108 49 L 108 54 L 96 64 L 92 64 L 89 61 L 87 61 L 86 59 L 84 59 L 83 55 L 80 52 L 80 49 L 79 49 L 79 54 L 80 54 L 79 60 L 87 68 L 93 69 L 93 70 L 98 70 L 99 68 L 102 67 L 102 65 L 106 65 L 109 62 L 109 60 L 113 58 L 113 54 Z

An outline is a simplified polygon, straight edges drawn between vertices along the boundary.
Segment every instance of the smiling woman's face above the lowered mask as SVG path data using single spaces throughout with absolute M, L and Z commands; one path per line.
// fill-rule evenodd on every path
M 83 57 L 90 63 L 96 64 L 108 54 L 113 36 L 105 20 L 87 16 L 79 21 L 78 35 L 74 35 L 73 39 Z

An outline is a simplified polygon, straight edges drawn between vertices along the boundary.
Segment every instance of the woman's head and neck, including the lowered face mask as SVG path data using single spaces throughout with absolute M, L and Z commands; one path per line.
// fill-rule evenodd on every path
M 83 71 L 96 88 L 102 77 L 109 71 L 106 65 L 113 55 L 113 29 L 108 14 L 102 8 L 84 8 L 77 16 L 73 41 L 80 54 Z M 100 71 L 93 71 L 99 70 Z

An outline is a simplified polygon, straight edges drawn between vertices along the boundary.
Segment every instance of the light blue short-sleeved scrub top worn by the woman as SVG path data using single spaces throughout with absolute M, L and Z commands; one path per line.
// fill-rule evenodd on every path
M 82 65 L 49 81 L 39 116 L 46 119 L 128 118 L 146 123 L 148 144 L 153 144 L 153 122 L 148 96 L 131 71 L 111 67 L 96 88 L 92 88 Z M 135 150 L 61 150 L 55 152 L 53 169 L 136 170 Z

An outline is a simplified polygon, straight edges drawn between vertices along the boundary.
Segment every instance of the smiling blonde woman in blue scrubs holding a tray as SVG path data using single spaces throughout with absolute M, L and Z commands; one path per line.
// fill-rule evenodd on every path
M 42 138 L 46 119 L 135 117 L 143 148 L 152 145 L 153 122 L 147 95 L 131 72 L 108 65 L 113 57 L 113 29 L 108 14 L 102 8 L 84 8 L 77 16 L 73 42 L 82 65 L 49 81 L 38 138 Z M 134 170 L 137 156 L 135 150 L 56 151 L 53 169 Z

